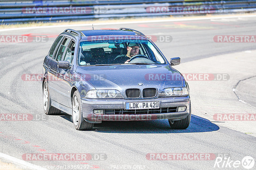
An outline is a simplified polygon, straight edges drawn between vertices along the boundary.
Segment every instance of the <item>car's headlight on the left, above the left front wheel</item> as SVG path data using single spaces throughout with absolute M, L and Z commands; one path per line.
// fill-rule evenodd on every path
M 89 90 L 85 97 L 90 99 L 123 98 L 118 90 Z

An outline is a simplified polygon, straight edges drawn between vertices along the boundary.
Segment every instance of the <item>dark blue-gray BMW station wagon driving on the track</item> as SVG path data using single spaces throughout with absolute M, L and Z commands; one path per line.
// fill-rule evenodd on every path
M 191 118 L 188 83 L 143 33 L 129 29 L 67 29 L 43 63 L 47 115 L 72 115 L 77 130 L 102 121 L 168 119 L 186 129 Z

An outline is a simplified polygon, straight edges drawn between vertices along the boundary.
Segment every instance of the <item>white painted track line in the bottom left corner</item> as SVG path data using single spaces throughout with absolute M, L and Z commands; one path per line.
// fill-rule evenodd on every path
M 14 158 L 14 157 L 12 157 L 12 156 L 10 156 L 10 155 L 6 155 L 6 154 L 1 153 L 1 152 L 0 152 L 0 158 L 6 159 L 6 160 L 10 160 L 10 161 L 12 161 L 14 164 L 18 164 L 16 167 L 19 167 L 19 166 L 20 166 L 20 167 L 21 167 L 21 166 L 26 166 L 26 167 L 28 167 L 29 169 L 47 170 L 47 169 L 42 168 L 42 167 L 40 167 L 40 166 L 31 164 L 31 163 L 29 163 L 29 162 L 26 162 L 26 161 L 21 160 L 21 159 L 18 159 L 18 158 Z M 24 169 L 24 167 L 23 167 L 23 168 L 20 168 L 20 169 Z

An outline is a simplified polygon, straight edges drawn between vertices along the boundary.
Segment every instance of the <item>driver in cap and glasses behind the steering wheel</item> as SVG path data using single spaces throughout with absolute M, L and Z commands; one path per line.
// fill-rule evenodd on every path
M 130 60 L 131 57 L 134 55 L 138 55 L 140 51 L 140 45 L 139 43 L 129 43 L 127 46 L 127 54 L 126 55 L 118 55 L 115 60 L 118 63 L 124 63 L 127 64 Z M 124 62 L 125 61 L 125 62 Z

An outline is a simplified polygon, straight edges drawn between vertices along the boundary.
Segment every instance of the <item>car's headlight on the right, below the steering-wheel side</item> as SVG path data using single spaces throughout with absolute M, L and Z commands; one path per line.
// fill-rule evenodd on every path
M 187 87 L 176 87 L 176 88 L 163 89 L 159 97 L 186 96 L 186 95 L 189 95 L 189 91 Z

